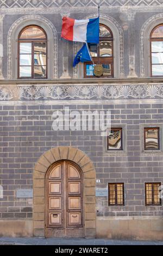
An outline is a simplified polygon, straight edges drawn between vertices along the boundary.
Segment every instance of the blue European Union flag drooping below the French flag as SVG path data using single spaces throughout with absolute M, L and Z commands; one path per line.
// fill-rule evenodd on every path
M 87 48 L 87 45 L 84 44 L 80 51 L 78 51 L 76 57 L 74 58 L 73 66 L 76 66 L 79 62 L 90 62 L 91 60 L 92 59 Z

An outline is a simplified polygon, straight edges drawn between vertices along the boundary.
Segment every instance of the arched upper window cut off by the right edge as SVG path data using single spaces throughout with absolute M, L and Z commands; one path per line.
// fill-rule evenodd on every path
M 163 24 L 153 28 L 151 42 L 151 76 L 163 76 Z

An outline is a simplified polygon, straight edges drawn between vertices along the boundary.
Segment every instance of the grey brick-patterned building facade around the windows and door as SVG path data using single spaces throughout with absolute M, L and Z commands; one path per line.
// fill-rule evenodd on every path
M 98 2 L 114 36 L 112 78 L 84 78 L 83 64 L 72 68 L 81 44 L 60 39 L 62 16 L 96 17 Z M 49 168 L 67 161 L 83 173 L 83 237 L 163 238 L 162 203 L 145 202 L 145 184 L 163 182 L 163 85 L 151 77 L 149 45 L 161 23 L 162 0 L 0 1 L 1 236 L 65 236 L 46 234 L 46 186 Z M 18 35 L 30 25 L 47 34 L 47 79 L 17 77 Z M 107 150 L 100 131 L 54 131 L 53 113 L 65 107 L 111 111 L 123 150 Z M 145 150 L 147 127 L 159 128 L 159 150 Z M 115 183 L 123 205 L 108 203 Z

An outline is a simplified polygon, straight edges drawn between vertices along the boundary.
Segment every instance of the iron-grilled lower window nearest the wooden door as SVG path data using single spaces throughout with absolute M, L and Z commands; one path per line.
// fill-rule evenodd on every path
M 108 184 L 109 205 L 124 205 L 124 183 Z

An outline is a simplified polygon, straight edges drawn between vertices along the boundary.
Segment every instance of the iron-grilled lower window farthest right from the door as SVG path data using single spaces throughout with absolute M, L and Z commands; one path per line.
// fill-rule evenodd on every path
M 145 183 L 146 205 L 161 205 L 160 186 L 161 182 Z

